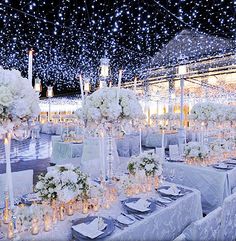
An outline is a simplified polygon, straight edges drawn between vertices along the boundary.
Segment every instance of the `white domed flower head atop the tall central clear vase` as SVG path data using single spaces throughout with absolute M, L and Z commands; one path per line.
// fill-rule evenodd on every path
M 135 120 L 143 117 L 142 107 L 132 90 L 103 88 L 86 98 L 83 110 L 76 111 L 77 116 L 89 122 L 104 123 L 116 120 Z

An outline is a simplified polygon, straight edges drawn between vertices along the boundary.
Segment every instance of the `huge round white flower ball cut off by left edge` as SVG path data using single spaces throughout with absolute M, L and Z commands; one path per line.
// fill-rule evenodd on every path
M 0 134 L 40 113 L 39 96 L 17 70 L 0 67 Z

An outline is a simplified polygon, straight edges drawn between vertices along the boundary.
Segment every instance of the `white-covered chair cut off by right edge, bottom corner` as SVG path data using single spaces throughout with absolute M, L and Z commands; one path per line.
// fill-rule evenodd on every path
M 236 193 L 225 198 L 222 206 L 220 239 L 236 240 Z

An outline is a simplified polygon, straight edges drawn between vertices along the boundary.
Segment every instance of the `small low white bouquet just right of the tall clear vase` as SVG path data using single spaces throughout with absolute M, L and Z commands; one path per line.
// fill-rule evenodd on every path
M 162 174 L 162 159 L 154 153 L 141 153 L 139 156 L 132 156 L 127 167 L 130 174 L 143 170 L 146 176 L 160 176 Z

